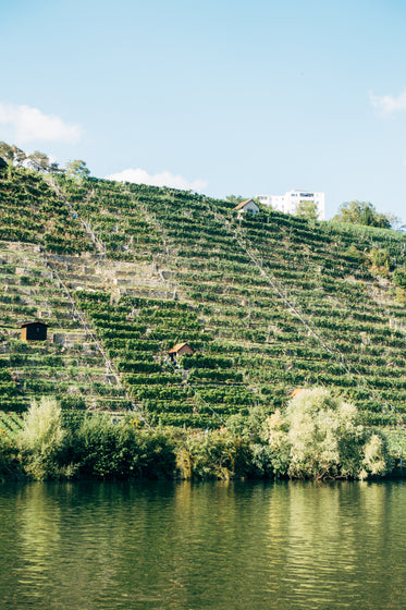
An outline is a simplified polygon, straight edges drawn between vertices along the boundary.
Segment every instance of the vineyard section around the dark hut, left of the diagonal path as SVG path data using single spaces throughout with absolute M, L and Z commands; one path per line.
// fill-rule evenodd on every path
M 65 408 L 131 406 L 91 329 L 58 273 L 61 261 L 36 246 L 0 243 L 0 394 L 4 411 L 25 411 L 35 396 L 58 394 Z M 66 273 L 69 257 L 63 257 Z M 91 264 L 91 259 L 87 259 Z M 40 319 L 48 340 L 21 340 L 21 325 Z

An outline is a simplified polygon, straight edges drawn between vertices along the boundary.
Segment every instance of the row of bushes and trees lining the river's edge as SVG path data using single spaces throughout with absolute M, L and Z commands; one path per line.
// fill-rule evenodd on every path
M 134 415 L 62 412 L 33 401 L 0 418 L 4 479 L 336 479 L 399 472 L 406 438 L 366 428 L 356 407 L 327 390 L 303 390 L 282 413 L 253 407 L 214 430 L 140 426 Z

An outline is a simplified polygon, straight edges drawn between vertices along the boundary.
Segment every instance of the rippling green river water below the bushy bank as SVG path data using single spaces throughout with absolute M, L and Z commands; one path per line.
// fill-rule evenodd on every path
M 2 484 L 0 608 L 406 609 L 406 484 Z

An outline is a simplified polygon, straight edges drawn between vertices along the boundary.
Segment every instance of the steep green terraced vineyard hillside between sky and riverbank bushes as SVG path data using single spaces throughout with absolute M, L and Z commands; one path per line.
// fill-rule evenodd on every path
M 0 220 L 4 411 L 57 394 L 206 428 L 324 386 L 368 424 L 405 422 L 399 233 L 264 208 L 238 219 L 204 195 L 11 168 Z M 46 342 L 20 339 L 32 319 Z M 194 354 L 173 364 L 182 342 Z

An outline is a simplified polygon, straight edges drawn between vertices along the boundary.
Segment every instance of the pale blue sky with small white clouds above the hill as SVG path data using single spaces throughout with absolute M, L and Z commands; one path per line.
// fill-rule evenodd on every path
M 406 222 L 405 0 L 0 0 L 0 141 Z

